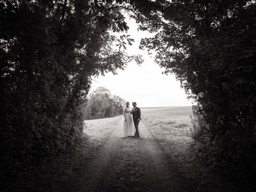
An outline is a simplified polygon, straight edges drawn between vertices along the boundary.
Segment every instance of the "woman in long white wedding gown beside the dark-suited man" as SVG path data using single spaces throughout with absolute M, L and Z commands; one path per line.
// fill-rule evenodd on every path
M 122 138 L 132 136 L 132 115 L 130 103 L 126 102 L 124 107 L 124 125 L 122 129 Z

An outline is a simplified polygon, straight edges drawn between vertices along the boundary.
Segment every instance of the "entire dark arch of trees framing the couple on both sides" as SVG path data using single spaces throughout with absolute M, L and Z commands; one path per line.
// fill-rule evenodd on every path
M 249 0 L 6 0 L 0 2 L 0 179 L 77 146 L 93 76 L 140 56 L 109 31 L 128 29 L 121 10 L 156 32 L 140 48 L 173 73 L 193 107 L 194 151 L 254 190 L 256 5 Z

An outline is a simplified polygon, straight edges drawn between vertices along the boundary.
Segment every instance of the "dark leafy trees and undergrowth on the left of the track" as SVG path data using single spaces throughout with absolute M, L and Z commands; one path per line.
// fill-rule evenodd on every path
M 76 146 L 92 76 L 141 62 L 112 28 L 128 29 L 112 1 L 0 2 L 0 180 Z

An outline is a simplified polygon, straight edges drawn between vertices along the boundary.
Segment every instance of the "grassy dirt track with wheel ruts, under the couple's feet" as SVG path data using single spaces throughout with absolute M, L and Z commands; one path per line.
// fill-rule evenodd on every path
M 200 191 L 196 180 L 180 174 L 149 129 L 140 122 L 140 138 L 120 138 L 123 117 L 87 120 L 84 132 L 94 144 L 76 171 L 76 184 L 66 190 L 84 192 Z

